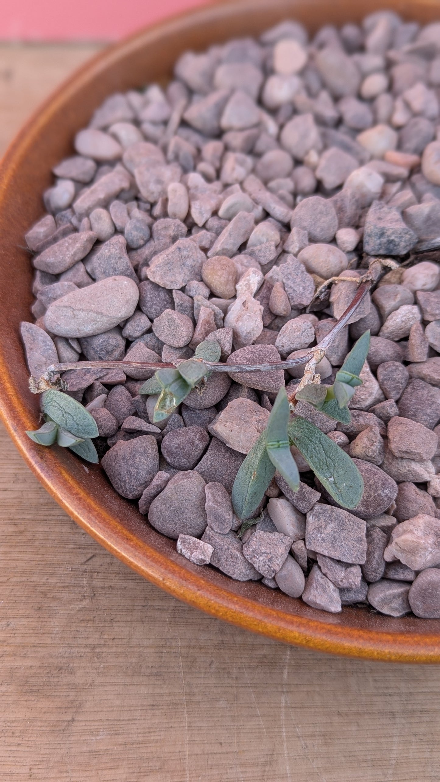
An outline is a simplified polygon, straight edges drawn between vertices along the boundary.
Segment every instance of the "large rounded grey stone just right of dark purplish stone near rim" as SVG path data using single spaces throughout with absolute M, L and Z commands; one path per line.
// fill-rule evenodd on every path
M 204 487 L 198 472 L 177 472 L 150 504 L 151 526 L 175 540 L 181 534 L 200 537 L 207 526 Z

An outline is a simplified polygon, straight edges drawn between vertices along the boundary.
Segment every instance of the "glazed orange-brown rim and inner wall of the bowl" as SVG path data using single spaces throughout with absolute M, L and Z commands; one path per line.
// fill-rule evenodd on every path
M 86 468 L 65 449 L 45 449 L 25 429 L 38 422 L 38 398 L 27 389 L 27 368 L 18 338 L 21 320 L 31 320 L 31 264 L 23 234 L 42 214 L 41 192 L 50 169 L 71 151 L 74 133 L 99 102 L 118 89 L 140 86 L 171 74 L 187 48 L 258 34 L 287 17 L 313 30 L 324 23 L 359 21 L 380 9 L 375 0 L 240 0 L 183 13 L 106 49 L 81 67 L 20 131 L 0 167 L 0 412 L 23 459 L 67 513 L 108 551 L 168 593 L 204 612 L 247 630 L 290 644 L 337 655 L 396 662 L 440 662 L 440 620 L 413 616 L 391 619 L 363 608 L 327 614 L 269 590 L 240 583 L 215 569 L 197 568 L 175 552 L 140 517 L 135 504 L 111 489 L 99 466 Z M 440 17 L 430 0 L 391 2 L 387 8 L 421 23 Z M 142 76 L 141 76 L 142 74 Z M 38 523 L 38 519 L 35 520 Z M 197 639 L 195 639 L 197 643 Z

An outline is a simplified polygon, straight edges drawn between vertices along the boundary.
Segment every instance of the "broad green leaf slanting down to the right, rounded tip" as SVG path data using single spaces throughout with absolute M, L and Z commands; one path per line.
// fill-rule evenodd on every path
M 289 424 L 289 436 L 331 497 L 344 508 L 356 508 L 363 481 L 348 454 L 317 426 L 299 416 Z

